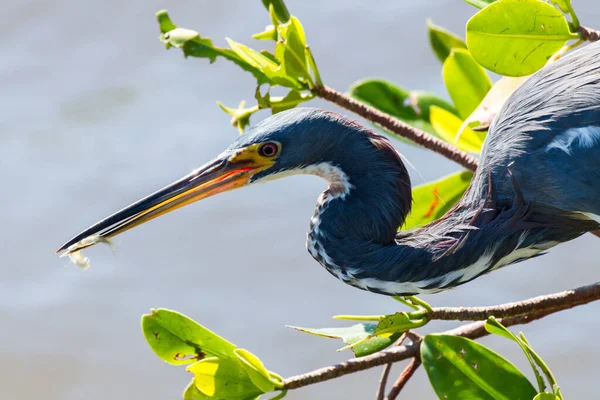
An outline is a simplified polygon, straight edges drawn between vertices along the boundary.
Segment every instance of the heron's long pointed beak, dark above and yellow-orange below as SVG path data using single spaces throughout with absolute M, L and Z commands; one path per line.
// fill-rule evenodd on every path
M 273 165 L 254 146 L 226 152 L 165 188 L 92 225 L 65 243 L 57 253 L 82 250 L 144 222 L 218 193 L 246 185 L 250 177 Z M 86 240 L 95 237 L 94 240 Z

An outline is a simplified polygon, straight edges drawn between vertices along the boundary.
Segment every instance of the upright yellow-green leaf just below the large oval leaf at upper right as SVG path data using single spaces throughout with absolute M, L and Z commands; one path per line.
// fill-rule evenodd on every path
M 492 87 L 492 81 L 466 49 L 453 49 L 442 67 L 444 83 L 458 110 L 467 118 Z

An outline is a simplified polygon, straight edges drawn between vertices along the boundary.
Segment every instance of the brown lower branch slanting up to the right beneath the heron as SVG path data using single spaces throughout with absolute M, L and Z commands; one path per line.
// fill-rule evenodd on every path
M 577 289 L 566 290 L 560 293 L 534 297 L 532 299 L 527 299 L 517 303 L 507 303 L 488 308 L 437 308 L 434 309 L 434 315 L 435 312 L 437 312 L 437 316 L 440 317 L 438 319 L 461 320 L 474 319 L 476 316 L 481 319 L 487 319 L 491 315 L 494 315 L 498 318 L 500 318 L 500 316 L 504 316 L 505 318 L 501 318 L 500 322 L 504 326 L 508 327 L 513 325 L 528 324 L 547 315 L 599 299 L 600 282 L 593 285 L 582 286 Z M 485 311 L 490 309 L 494 310 L 497 314 Z M 476 339 L 488 335 L 488 332 L 484 328 L 483 321 L 462 325 L 444 333 L 448 335 L 463 336 L 469 339 Z M 336 365 L 320 368 L 306 374 L 293 376 L 284 380 L 283 388 L 297 389 L 303 386 L 338 378 L 353 372 L 377 367 L 379 365 L 402 361 L 413 357 L 419 357 L 420 343 L 420 340 L 418 340 L 408 346 L 402 345 L 388 348 L 365 357 L 352 358 Z

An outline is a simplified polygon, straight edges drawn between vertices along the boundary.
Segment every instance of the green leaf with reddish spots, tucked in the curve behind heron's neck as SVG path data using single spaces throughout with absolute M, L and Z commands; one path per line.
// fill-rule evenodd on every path
M 413 188 L 413 208 L 402 229 L 413 229 L 437 220 L 460 200 L 473 173 L 457 172 Z

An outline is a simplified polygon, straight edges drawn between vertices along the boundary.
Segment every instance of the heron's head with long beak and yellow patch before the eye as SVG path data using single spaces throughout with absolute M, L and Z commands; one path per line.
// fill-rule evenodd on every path
M 250 128 L 212 161 L 92 225 L 58 252 L 81 250 L 96 243 L 84 240 L 92 235 L 110 238 L 198 200 L 290 174 L 321 175 L 341 195 L 352 188 L 348 176 L 364 170 L 362 164 L 373 162 L 377 170 L 381 157 L 370 161 L 371 154 L 389 153 L 405 174 L 397 153 L 380 139 L 328 111 L 296 108 L 278 113 Z M 408 188 L 410 199 L 410 183 Z

